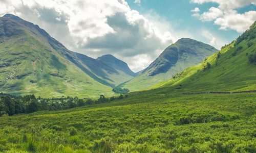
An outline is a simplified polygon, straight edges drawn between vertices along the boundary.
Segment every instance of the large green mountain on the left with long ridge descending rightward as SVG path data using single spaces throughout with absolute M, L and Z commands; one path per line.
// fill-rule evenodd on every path
M 115 69 L 105 61 L 71 52 L 38 25 L 11 14 L 0 18 L 1 92 L 46 97 L 112 95 L 112 87 L 134 76 L 125 72 L 127 67 Z M 116 82 L 116 78 L 121 79 Z

